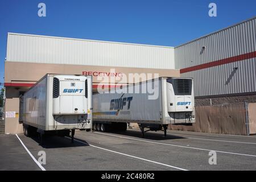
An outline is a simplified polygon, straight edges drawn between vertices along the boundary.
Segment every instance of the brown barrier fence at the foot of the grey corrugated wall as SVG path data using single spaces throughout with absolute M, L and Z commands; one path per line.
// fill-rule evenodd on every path
M 198 106 L 196 107 L 196 123 L 193 126 L 170 125 L 168 129 L 246 135 L 245 104 Z

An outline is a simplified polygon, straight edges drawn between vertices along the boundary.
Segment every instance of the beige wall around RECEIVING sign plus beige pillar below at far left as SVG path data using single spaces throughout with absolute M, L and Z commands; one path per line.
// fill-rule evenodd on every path
M 113 67 L 97 67 L 83 65 L 65 64 L 38 64 L 38 63 L 18 63 L 5 62 L 5 83 L 11 84 L 31 84 L 38 81 L 46 73 L 82 75 L 83 72 L 110 72 Z M 179 77 L 179 70 L 174 69 L 143 69 L 143 68 L 115 68 L 116 73 L 158 73 L 160 77 Z M 99 82 L 97 77 L 93 77 L 93 82 Z M 126 82 L 125 82 L 126 83 Z M 7 86 L 5 111 L 16 111 L 19 113 L 19 92 L 26 91 L 28 87 Z M 6 118 L 5 133 L 23 133 L 22 123 L 19 118 Z

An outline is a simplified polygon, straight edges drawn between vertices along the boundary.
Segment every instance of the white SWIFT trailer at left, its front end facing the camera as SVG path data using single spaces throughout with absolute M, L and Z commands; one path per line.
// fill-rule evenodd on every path
M 92 129 L 92 77 L 47 74 L 21 99 L 24 135 L 69 136 Z

